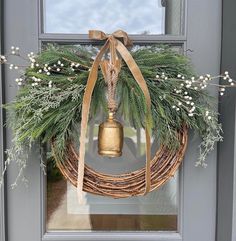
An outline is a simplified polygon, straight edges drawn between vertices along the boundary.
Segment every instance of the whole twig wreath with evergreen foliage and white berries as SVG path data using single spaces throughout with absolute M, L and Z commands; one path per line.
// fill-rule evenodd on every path
M 34 142 L 51 145 L 60 171 L 78 186 L 80 154 L 74 142 L 81 134 L 83 97 L 98 52 L 92 46 L 47 45 L 38 55 L 30 53 L 24 57 L 19 48 L 13 46 L 11 54 L 1 56 L 1 63 L 9 69 L 21 71 L 15 80 L 20 87 L 17 96 L 5 105 L 14 145 L 7 150 L 4 172 L 12 160 L 20 166 L 13 186 L 19 179 L 25 180 L 27 153 Z M 151 115 L 148 116 L 145 95 L 125 61 L 121 62 L 116 83 L 116 112 L 130 126 L 150 129 L 149 133 L 152 131 L 152 136 L 160 142 L 160 149 L 150 160 L 148 191 L 152 191 L 173 176 L 181 164 L 188 129 L 196 131 L 202 139 L 196 166 L 206 167 L 207 154 L 217 141 L 222 141 L 215 100 L 207 87 L 217 88 L 223 96 L 226 87 L 234 87 L 235 81 L 227 71 L 219 76 L 197 77 L 189 59 L 168 46 L 136 46 L 130 49 L 130 54 L 145 79 Z M 10 63 L 11 56 L 22 58 L 26 65 Z M 217 84 L 218 78 L 223 78 L 225 84 Z M 89 120 L 98 113 L 109 112 L 107 85 L 102 68 L 98 68 Z M 144 167 L 131 173 L 109 175 L 85 164 L 81 187 L 90 193 L 115 198 L 143 195 L 146 172 Z

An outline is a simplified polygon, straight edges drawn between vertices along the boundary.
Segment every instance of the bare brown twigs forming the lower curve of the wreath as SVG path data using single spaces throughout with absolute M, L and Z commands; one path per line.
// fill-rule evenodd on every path
M 153 191 L 163 185 L 174 176 L 179 168 L 188 141 L 188 129 L 186 127 L 178 134 L 180 147 L 171 151 L 161 146 L 151 161 L 151 190 Z M 61 173 L 75 187 L 77 186 L 77 167 L 79 155 L 73 143 L 67 143 L 67 151 L 64 160 L 57 157 L 56 150 L 52 144 L 52 150 L 56 163 Z M 145 189 L 145 167 L 120 175 L 109 175 L 97 172 L 85 165 L 85 176 L 83 190 L 92 194 L 109 196 L 113 198 L 126 198 L 143 195 Z

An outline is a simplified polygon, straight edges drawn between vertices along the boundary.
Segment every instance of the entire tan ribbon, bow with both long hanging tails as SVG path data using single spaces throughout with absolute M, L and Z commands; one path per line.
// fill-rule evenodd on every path
M 81 120 L 81 133 L 80 133 L 80 150 L 79 150 L 79 163 L 78 163 L 78 179 L 77 179 L 77 192 L 79 197 L 79 202 L 82 202 L 83 197 L 83 179 L 84 179 L 84 158 L 85 158 L 85 140 L 86 140 L 86 131 L 87 131 L 87 124 L 89 118 L 89 109 L 90 103 L 92 98 L 93 89 L 97 80 L 98 76 L 98 68 L 99 65 L 102 63 L 102 57 L 106 53 L 108 49 L 110 49 L 111 54 L 111 63 L 114 65 L 117 64 L 117 52 L 120 54 L 122 59 L 127 64 L 130 72 L 132 73 L 134 79 L 137 81 L 139 87 L 141 88 L 147 105 L 147 114 L 146 114 L 146 126 L 145 126 L 145 133 L 146 133 L 146 172 L 145 172 L 145 189 L 144 195 L 150 191 L 151 186 L 151 177 L 150 177 L 150 160 L 151 160 L 151 144 L 150 144 L 150 128 L 148 128 L 148 119 L 150 119 L 151 115 L 151 98 L 150 94 L 146 85 L 146 82 L 143 78 L 143 75 L 134 61 L 132 55 L 129 53 L 125 46 L 131 46 L 132 42 L 129 39 L 126 32 L 122 30 L 115 31 L 111 35 L 106 35 L 102 31 L 98 30 L 90 30 L 89 31 L 89 38 L 96 39 L 96 40 L 106 40 L 103 47 L 100 49 L 99 53 L 97 54 L 93 65 L 91 67 L 89 77 L 87 80 L 87 85 L 85 88 L 84 96 L 83 96 L 83 104 L 82 104 L 82 120 Z M 123 43 L 121 42 L 123 41 Z

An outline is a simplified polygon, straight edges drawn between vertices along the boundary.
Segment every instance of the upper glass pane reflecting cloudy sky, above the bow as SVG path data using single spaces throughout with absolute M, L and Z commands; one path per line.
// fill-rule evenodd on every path
M 44 0 L 44 32 L 182 34 L 183 0 Z

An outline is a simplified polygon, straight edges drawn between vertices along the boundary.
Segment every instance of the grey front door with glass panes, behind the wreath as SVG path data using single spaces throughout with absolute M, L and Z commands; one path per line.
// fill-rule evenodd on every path
M 94 44 L 89 29 L 113 32 L 122 28 L 135 45 L 168 44 L 187 54 L 199 74 L 217 75 L 220 69 L 220 0 L 7 0 L 4 1 L 4 49 L 19 46 L 38 52 L 48 43 Z M 11 101 L 17 73 L 5 69 L 2 88 Z M 213 93 L 214 94 L 214 93 Z M 216 95 L 216 93 L 215 93 Z M 2 130 L 1 130 L 2 131 Z M 93 153 L 97 123 L 89 126 Z M 216 219 L 216 150 L 206 169 L 196 168 L 199 139 L 190 132 L 182 167 L 163 187 L 145 197 L 110 199 L 86 194 L 76 202 L 75 188 L 48 162 L 40 168 L 42 152 L 30 153 L 25 175 L 28 187 L 15 190 L 17 165 L 11 164 L 6 181 L 7 236 L 9 241 L 169 240 L 214 241 Z M 119 163 L 102 160 L 106 171 L 124 172 L 132 157 L 143 153 L 143 132 L 126 128 L 126 154 Z M 11 145 L 7 130 L 5 143 Z M 136 147 L 136 148 L 134 148 Z M 96 169 L 95 155 L 92 164 Z M 131 163 L 125 160 L 129 157 Z M 96 162 L 97 161 L 97 162 Z M 101 161 L 101 160 L 100 160 Z M 139 164 L 137 164 L 138 166 Z M 1 230 L 1 229 L 0 229 Z M 4 240 L 5 241 L 5 240 Z

